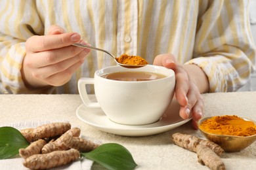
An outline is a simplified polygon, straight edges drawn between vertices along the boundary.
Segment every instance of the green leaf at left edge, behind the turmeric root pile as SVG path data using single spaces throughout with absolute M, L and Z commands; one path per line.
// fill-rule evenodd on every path
M 15 156 L 20 148 L 26 148 L 29 144 L 14 127 L 0 127 L 0 160 Z

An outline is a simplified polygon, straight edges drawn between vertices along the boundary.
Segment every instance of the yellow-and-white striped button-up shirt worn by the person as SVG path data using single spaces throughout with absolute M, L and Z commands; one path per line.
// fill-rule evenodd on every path
M 115 56 L 139 55 L 153 63 L 171 53 L 179 63 L 196 64 L 210 92 L 230 92 L 255 70 L 255 45 L 249 27 L 249 1 L 242 0 L 0 0 L 1 93 L 50 93 L 29 90 L 20 69 L 26 39 L 45 35 L 53 24 L 74 31 L 92 46 Z M 78 93 L 77 80 L 93 77 L 114 60 L 91 50 L 71 80 L 54 93 Z

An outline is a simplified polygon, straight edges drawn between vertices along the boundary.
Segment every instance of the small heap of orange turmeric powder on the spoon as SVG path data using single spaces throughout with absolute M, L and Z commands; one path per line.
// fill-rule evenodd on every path
M 122 54 L 119 58 L 116 58 L 118 63 L 127 65 L 146 65 L 148 62 L 140 56 L 128 56 L 127 54 Z

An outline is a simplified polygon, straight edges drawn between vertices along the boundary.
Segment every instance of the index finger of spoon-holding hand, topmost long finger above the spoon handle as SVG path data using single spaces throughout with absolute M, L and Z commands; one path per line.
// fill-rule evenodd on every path
M 64 46 L 70 46 L 74 42 L 80 41 L 81 36 L 77 33 L 62 33 L 58 35 L 32 36 L 26 42 L 28 52 L 42 52 Z

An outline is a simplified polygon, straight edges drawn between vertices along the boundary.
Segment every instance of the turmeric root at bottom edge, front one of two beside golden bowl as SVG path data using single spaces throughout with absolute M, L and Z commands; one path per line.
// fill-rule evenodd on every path
M 198 144 L 196 146 L 196 153 L 198 154 L 198 162 L 202 165 L 206 165 L 212 170 L 224 170 L 225 165 L 221 158 L 215 154 L 211 148 L 203 144 Z

